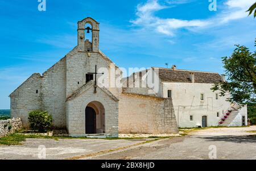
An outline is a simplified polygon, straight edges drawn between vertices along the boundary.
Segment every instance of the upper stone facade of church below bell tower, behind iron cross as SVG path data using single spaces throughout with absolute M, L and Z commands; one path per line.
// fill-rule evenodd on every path
M 117 81 L 115 78 L 121 76 L 122 72 L 102 52 L 77 52 L 67 55 L 66 97 L 69 97 L 69 95 L 86 83 L 86 74 L 89 72 L 94 73 L 95 65 L 97 65 L 97 72 L 104 72 L 103 75 L 97 75 L 97 80 L 105 80 L 104 86 L 118 97 L 122 89 L 121 86 L 115 86 L 115 82 Z M 115 75 L 115 73 L 117 73 L 117 75 Z M 104 79 L 102 79 L 102 77 L 104 77 Z

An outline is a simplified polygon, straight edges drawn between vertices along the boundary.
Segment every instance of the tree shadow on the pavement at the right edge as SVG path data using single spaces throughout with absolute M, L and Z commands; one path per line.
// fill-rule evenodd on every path
M 232 143 L 256 143 L 256 136 L 209 136 L 201 137 L 205 141 L 226 141 Z

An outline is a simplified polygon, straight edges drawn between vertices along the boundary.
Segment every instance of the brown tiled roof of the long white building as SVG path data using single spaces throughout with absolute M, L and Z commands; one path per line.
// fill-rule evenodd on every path
M 221 76 L 218 73 L 201 72 L 195 70 L 181 70 L 181 69 L 159 69 L 159 77 L 162 82 L 191 82 L 190 74 L 195 74 L 196 83 L 216 83 L 221 82 Z

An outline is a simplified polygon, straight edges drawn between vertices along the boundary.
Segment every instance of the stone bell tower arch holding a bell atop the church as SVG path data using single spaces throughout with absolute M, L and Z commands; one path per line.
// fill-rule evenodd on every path
M 92 28 L 87 27 L 85 28 L 85 24 L 89 23 Z M 77 29 L 77 43 L 80 52 L 85 52 L 85 31 L 89 32 L 92 31 L 92 51 L 98 52 L 99 51 L 99 32 L 100 32 L 100 23 L 98 23 L 93 18 L 85 18 L 78 23 Z

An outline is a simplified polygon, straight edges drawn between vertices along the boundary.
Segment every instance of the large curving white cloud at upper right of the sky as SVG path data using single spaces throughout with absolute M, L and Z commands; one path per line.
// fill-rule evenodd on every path
M 174 4 L 179 1 L 167 1 L 167 4 Z M 189 1 L 180 1 L 186 3 Z M 224 10 L 209 19 L 181 20 L 175 18 L 159 18 L 155 16 L 156 11 L 167 9 L 170 6 L 160 5 L 158 0 L 148 0 L 145 4 L 137 6 L 137 19 L 131 22 L 135 26 L 147 29 L 155 28 L 156 32 L 164 35 L 174 36 L 179 28 L 205 28 L 219 26 L 231 20 L 245 18 L 247 9 L 254 3 L 254 0 L 228 0 L 224 3 Z

